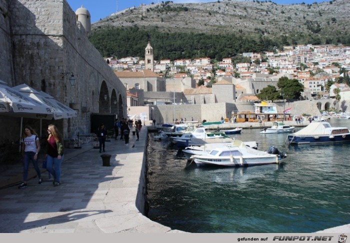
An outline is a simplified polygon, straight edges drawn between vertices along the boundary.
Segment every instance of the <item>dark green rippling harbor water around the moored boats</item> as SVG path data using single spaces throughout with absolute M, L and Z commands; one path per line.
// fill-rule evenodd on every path
M 330 119 L 350 128 L 348 119 Z M 296 130 L 301 128 L 296 128 Z M 315 232 L 350 223 L 349 143 L 289 145 L 288 133 L 230 135 L 287 153 L 279 165 L 185 168 L 181 150 L 148 139 L 147 216 L 187 232 Z

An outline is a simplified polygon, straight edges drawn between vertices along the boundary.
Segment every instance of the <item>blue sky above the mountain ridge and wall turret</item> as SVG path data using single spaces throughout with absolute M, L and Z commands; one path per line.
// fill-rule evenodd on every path
M 109 16 L 110 14 L 116 12 L 117 2 L 118 10 L 123 10 L 132 6 L 139 6 L 141 3 L 150 4 L 152 2 L 158 3 L 161 0 L 66 0 L 70 7 L 75 11 L 81 5 L 83 5 L 91 14 L 91 22 L 96 22 L 100 18 Z M 166 0 L 163 0 L 166 1 Z M 195 2 L 214 2 L 215 0 L 172 0 L 174 3 L 195 3 Z M 217 1 L 217 0 L 216 0 Z M 291 4 L 291 3 L 301 3 L 306 4 L 312 2 L 323 2 L 329 0 L 271 0 L 277 4 Z

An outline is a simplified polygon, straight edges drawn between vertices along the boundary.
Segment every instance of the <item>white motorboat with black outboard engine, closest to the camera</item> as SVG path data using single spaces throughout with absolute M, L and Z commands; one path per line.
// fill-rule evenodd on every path
M 266 152 L 247 146 L 234 146 L 214 148 L 207 154 L 193 155 L 191 159 L 197 165 L 249 166 L 279 163 L 285 157 L 286 154 L 279 152 L 275 146 L 270 146 Z

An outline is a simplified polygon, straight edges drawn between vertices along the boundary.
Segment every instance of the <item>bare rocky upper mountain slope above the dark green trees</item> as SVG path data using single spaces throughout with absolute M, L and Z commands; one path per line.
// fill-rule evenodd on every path
M 103 29 L 136 27 L 161 33 L 256 36 L 276 41 L 271 44 L 277 45 L 349 44 L 349 9 L 350 0 L 290 5 L 270 0 L 162 1 L 125 9 L 99 20 L 92 24 L 92 36 Z

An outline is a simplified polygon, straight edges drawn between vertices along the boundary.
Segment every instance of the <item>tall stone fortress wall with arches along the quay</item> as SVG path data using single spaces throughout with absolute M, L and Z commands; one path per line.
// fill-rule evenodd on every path
M 42 120 L 44 132 L 54 123 L 64 138 L 72 138 L 90 133 L 92 113 L 126 116 L 124 85 L 89 42 L 66 0 L 0 0 L 0 11 L 0 79 L 9 86 L 26 83 L 77 110 L 77 117 Z M 71 72 L 75 86 L 69 84 Z M 9 120 L 0 116 L 0 122 Z M 16 124 L 18 118 L 12 120 Z M 24 122 L 38 128 L 38 120 Z M 18 127 L 13 129 L 18 134 Z M 4 137 L 15 139 L 11 133 Z

